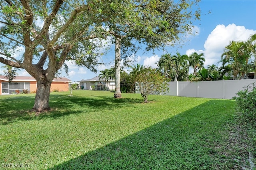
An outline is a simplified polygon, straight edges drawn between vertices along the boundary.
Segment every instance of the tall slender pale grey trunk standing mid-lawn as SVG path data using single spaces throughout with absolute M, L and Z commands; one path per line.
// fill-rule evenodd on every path
M 116 72 L 116 90 L 114 93 L 115 98 L 122 97 L 120 89 L 120 69 L 121 69 L 121 40 L 116 37 L 115 43 L 115 72 Z

